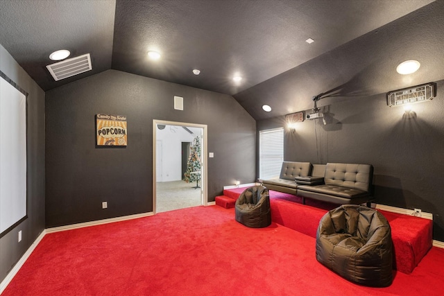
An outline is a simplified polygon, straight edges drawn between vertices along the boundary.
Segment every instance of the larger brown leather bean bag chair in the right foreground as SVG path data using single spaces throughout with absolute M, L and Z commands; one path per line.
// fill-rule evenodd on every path
M 321 218 L 316 259 L 349 281 L 386 287 L 393 281 L 390 225 L 375 209 L 343 204 Z

